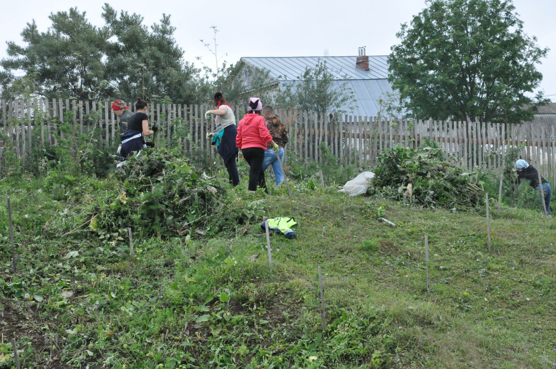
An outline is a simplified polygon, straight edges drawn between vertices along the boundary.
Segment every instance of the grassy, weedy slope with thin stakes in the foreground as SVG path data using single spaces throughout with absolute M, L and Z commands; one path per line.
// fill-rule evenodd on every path
M 483 213 L 229 188 L 239 207 L 299 222 L 296 240 L 271 236 L 271 274 L 262 219 L 204 237 L 135 230 L 134 263 L 125 232 L 62 237 L 114 181 L 87 179 L 60 201 L 41 179 L 0 183 L 19 268 L 2 200 L 0 368 L 15 367 L 13 337 L 26 368 L 556 367 L 556 221 L 539 212 L 492 211 L 489 255 Z M 375 220 L 383 203 L 398 226 Z

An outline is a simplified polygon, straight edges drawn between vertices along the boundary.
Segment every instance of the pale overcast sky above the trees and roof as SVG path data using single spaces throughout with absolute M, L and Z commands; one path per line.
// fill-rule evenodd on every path
M 0 41 L 21 43 L 22 29 L 34 19 L 39 30 L 46 31 L 51 12 L 67 11 L 78 6 L 86 11 L 91 23 L 102 26 L 105 1 L 27 0 L 3 3 Z M 188 61 L 201 56 L 214 67 L 214 56 L 199 39 L 212 41 L 211 26 L 217 26 L 217 51 L 227 53 L 226 61 L 236 62 L 243 56 L 349 56 L 357 55 L 359 46 L 368 55 L 387 55 L 396 43 L 400 23 L 424 7 L 424 0 L 315 1 L 108 1 L 112 7 L 142 14 L 145 24 L 152 24 L 162 13 L 172 15 L 176 41 Z M 210 7 L 209 4 L 214 4 Z M 514 0 L 524 21 L 525 32 L 537 36 L 542 47 L 552 49 L 539 71 L 543 73 L 540 89 L 556 101 L 556 6 L 555 0 Z M 6 57 L 6 47 L 0 48 Z M 223 59 L 223 60 L 224 60 Z

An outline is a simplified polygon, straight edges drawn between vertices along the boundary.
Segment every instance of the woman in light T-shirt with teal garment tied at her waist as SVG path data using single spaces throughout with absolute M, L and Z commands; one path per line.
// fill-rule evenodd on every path
M 209 120 L 211 114 L 216 116 L 215 132 L 207 133 L 207 139 L 212 137 L 212 144 L 216 145 L 218 153 L 224 159 L 230 184 L 235 187 L 240 183 L 240 174 L 237 172 L 236 166 L 237 152 L 239 151 L 236 146 L 236 117 L 231 105 L 226 103 L 222 92 L 214 94 L 213 103 L 216 109 L 207 111 L 205 118 Z

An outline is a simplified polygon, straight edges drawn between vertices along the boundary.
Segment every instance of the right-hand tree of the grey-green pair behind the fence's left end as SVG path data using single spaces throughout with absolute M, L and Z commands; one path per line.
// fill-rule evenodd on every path
M 160 23 L 149 29 L 139 14 L 122 11 L 118 16 L 108 4 L 103 11 L 102 17 L 115 36 L 106 50 L 113 94 L 153 101 L 167 97 L 174 103 L 197 101 L 199 70 L 183 61 L 170 15 L 163 14 Z

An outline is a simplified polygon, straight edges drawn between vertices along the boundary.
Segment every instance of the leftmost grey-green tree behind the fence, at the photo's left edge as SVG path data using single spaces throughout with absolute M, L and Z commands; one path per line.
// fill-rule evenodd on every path
M 92 99 L 106 93 L 102 61 L 110 31 L 87 21 L 86 13 L 71 8 L 52 13 L 52 25 L 39 32 L 36 23 L 27 23 L 21 32 L 26 46 L 8 42 L 8 57 L 0 62 L 4 93 L 14 84 L 14 71 L 21 70 L 32 80 L 32 93 L 53 97 Z

